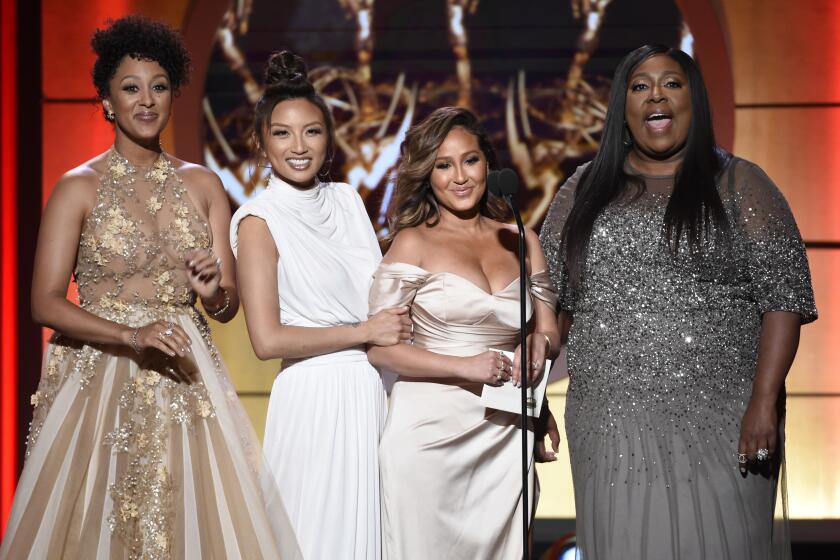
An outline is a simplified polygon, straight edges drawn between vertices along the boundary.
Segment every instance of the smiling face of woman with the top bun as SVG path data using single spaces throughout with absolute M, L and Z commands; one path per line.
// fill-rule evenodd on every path
M 281 101 L 271 111 L 263 147 L 274 173 L 298 188 L 313 186 L 327 155 L 324 115 L 306 99 Z

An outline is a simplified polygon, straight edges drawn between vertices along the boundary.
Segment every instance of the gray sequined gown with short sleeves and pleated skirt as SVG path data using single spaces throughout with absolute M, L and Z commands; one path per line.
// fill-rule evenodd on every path
M 572 290 L 561 232 L 583 169 L 541 234 L 559 307 L 573 316 L 566 433 L 583 557 L 789 558 L 786 524 L 773 521 L 783 461 L 746 477 L 737 464 L 762 313 L 817 316 L 787 203 L 733 158 L 719 185 L 731 249 L 673 257 L 661 241 L 673 178 L 643 176 L 639 198 L 595 221 Z

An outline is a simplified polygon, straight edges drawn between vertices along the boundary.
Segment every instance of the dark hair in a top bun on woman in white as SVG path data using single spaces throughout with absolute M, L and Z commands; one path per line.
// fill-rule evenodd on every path
M 273 53 L 268 58 L 263 77 L 265 90 L 254 109 L 254 139 L 257 148 L 265 152 L 265 135 L 271 126 L 271 113 L 278 103 L 290 99 L 305 99 L 318 107 L 324 117 L 327 128 L 327 155 L 318 174 L 323 176 L 329 171 L 335 154 L 335 124 L 332 113 L 324 98 L 309 81 L 306 63 L 289 50 Z

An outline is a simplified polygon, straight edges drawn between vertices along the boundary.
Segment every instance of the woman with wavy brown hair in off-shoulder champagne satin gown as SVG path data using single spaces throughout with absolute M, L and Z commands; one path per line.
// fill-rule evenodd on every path
M 454 107 L 409 130 L 401 153 L 391 246 L 370 296 L 371 314 L 410 306 L 413 326 L 411 344 L 368 351 L 399 374 L 379 446 L 384 555 L 518 558 L 522 515 L 533 513 L 521 506 L 519 417 L 480 398 L 485 384 L 519 382 L 518 243 L 487 192 L 496 155 L 475 115 Z M 560 337 L 539 240 L 526 237 L 533 376 Z M 554 460 L 535 439 L 537 460 Z

